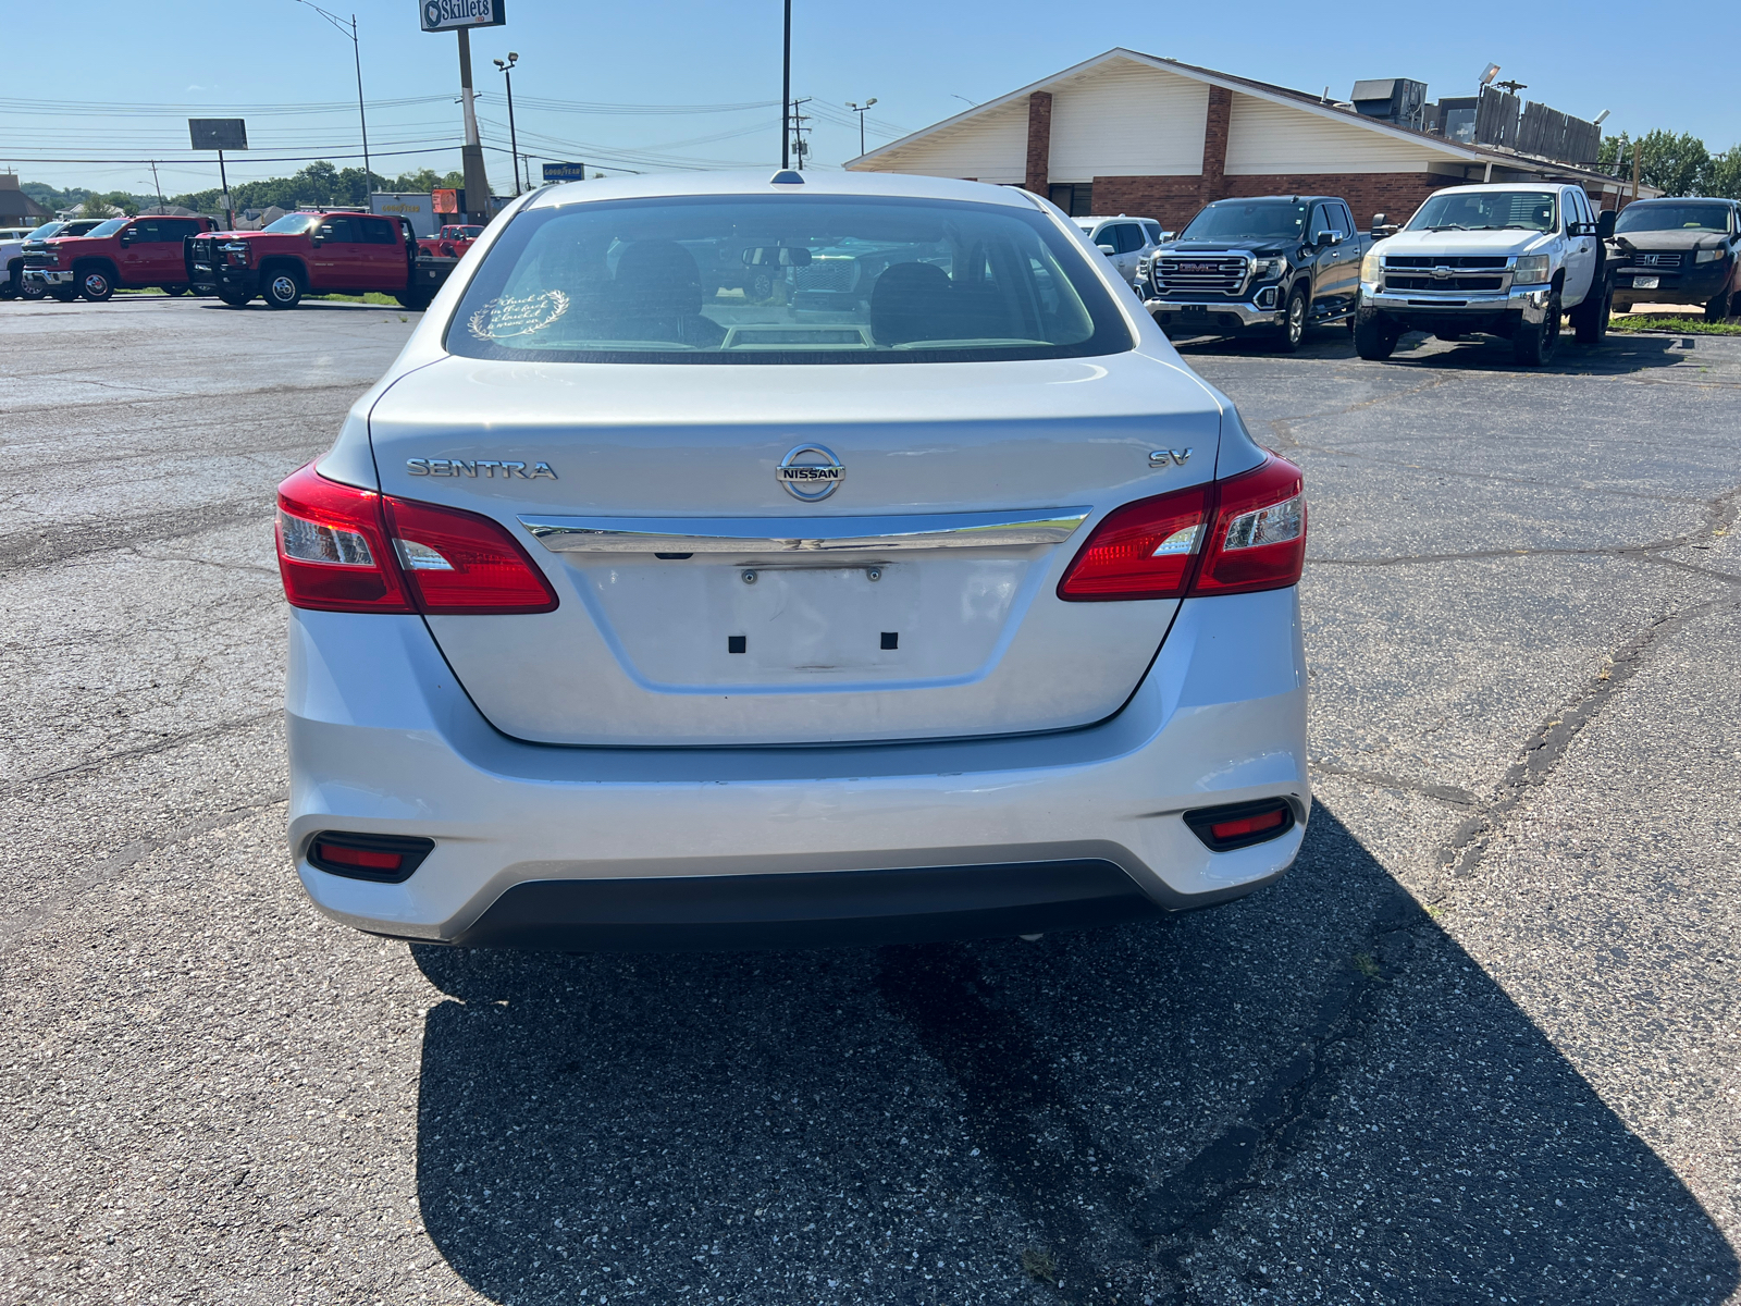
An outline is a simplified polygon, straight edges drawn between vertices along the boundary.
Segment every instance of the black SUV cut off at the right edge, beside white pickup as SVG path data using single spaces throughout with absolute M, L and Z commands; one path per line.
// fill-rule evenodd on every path
M 1741 204 L 1633 200 L 1609 240 L 1614 306 L 1703 303 L 1710 319 L 1741 313 Z

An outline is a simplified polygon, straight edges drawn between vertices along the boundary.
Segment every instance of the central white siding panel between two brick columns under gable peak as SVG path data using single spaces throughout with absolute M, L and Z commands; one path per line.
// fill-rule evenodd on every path
M 1052 87 L 1052 179 L 1196 176 L 1208 87 L 1114 59 Z

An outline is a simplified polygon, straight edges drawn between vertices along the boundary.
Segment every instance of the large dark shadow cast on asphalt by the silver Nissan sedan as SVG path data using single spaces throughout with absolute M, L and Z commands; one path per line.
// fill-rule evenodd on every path
M 1717 1303 L 1692 1195 L 1321 804 L 1240 904 L 1038 944 L 413 947 L 482 1296 Z

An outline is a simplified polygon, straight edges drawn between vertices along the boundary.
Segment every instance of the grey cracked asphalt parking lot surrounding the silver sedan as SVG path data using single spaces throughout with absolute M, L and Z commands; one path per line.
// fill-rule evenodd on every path
M 284 848 L 272 488 L 407 319 L 0 306 L 0 1301 L 1741 1301 L 1741 340 L 1184 347 L 1307 474 L 1276 888 L 585 958 Z

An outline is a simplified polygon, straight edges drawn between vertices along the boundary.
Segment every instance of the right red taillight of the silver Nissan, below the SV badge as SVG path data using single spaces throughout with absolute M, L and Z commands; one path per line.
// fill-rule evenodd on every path
M 1271 454 L 1227 481 L 1107 514 L 1059 582 L 1059 597 L 1083 603 L 1250 594 L 1297 583 L 1304 566 L 1301 470 Z

